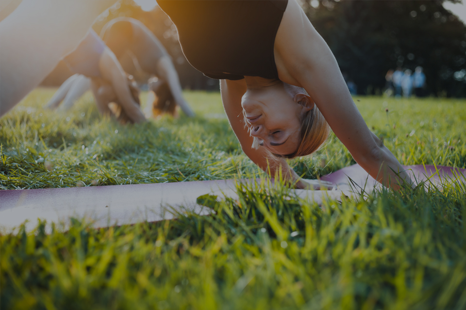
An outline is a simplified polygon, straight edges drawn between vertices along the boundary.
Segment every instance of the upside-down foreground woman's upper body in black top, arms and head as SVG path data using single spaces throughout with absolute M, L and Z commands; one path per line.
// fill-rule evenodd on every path
M 277 162 L 270 173 L 283 167 L 284 175 L 304 188 L 284 158 L 316 151 L 327 138 L 328 123 L 376 180 L 394 189 L 404 180 L 411 184 L 367 128 L 330 48 L 295 0 L 157 3 L 176 25 L 187 60 L 204 75 L 222 79 L 233 131 L 263 170 L 272 153 Z

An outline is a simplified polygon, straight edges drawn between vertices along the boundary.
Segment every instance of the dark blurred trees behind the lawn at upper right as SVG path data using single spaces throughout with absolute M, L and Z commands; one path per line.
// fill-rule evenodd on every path
M 444 1 L 312 2 L 303 1 L 303 9 L 359 93 L 382 90 L 389 69 L 421 65 L 429 92 L 466 96 L 466 25 Z

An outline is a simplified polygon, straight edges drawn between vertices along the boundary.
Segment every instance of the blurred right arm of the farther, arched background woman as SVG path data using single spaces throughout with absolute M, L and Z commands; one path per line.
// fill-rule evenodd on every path
M 178 78 L 178 74 L 176 73 L 176 69 L 170 58 L 168 58 L 168 56 L 162 57 L 157 63 L 157 68 L 163 74 L 162 78 L 167 81 L 168 87 L 170 88 L 173 98 L 175 98 L 176 104 L 180 106 L 184 114 L 189 117 L 194 116 L 193 110 L 183 98 L 180 79 Z

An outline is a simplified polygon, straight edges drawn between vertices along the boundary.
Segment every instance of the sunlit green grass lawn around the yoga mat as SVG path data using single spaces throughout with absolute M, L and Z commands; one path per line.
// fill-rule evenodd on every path
M 262 175 L 241 153 L 218 93 L 185 93 L 196 119 L 129 126 L 100 119 L 89 95 L 66 115 L 41 109 L 52 93 L 34 91 L 0 120 L 2 189 Z M 465 100 L 356 99 L 402 164 L 466 168 Z M 351 163 L 334 136 L 292 161 L 307 177 Z M 99 230 L 74 219 L 67 231 L 57 223 L 46 234 L 39 222 L 32 233 L 2 233 L 0 307 L 466 308 L 465 186 L 323 206 L 280 183 L 238 193 L 203 197 L 216 211 L 208 217 Z

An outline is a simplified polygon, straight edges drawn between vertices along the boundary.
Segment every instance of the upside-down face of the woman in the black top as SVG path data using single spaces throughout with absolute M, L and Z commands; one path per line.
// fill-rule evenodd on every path
M 250 135 L 274 154 L 294 153 L 300 142 L 303 114 L 314 102 L 301 88 L 288 84 L 248 89 L 241 106 Z

